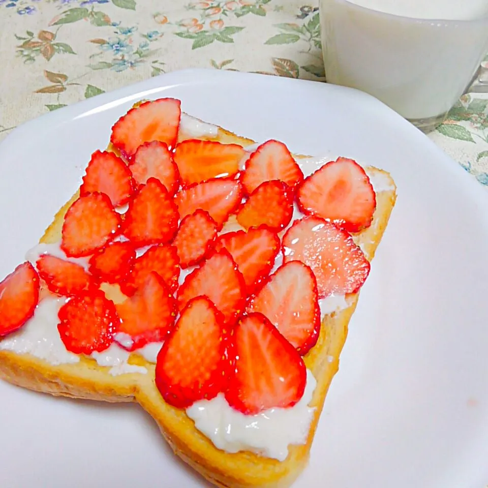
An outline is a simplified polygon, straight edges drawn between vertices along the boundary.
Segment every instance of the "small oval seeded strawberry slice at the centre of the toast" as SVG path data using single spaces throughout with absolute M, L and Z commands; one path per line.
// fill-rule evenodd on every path
M 205 210 L 196 210 L 179 224 L 173 246 L 178 250 L 179 265 L 185 269 L 208 255 L 217 237 L 217 224 Z

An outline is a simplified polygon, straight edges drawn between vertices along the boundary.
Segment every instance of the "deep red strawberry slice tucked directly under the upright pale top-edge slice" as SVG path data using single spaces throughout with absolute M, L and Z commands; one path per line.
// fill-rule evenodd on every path
M 249 229 L 266 225 L 283 230 L 293 216 L 293 191 L 283 181 L 265 181 L 251 193 L 237 212 L 237 222 Z

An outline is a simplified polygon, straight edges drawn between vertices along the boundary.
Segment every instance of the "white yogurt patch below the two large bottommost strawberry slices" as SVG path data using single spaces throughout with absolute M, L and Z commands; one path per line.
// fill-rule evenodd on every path
M 284 461 L 290 444 L 304 444 L 315 408 L 309 407 L 317 382 L 307 370 L 307 385 L 301 400 L 290 408 L 271 408 L 257 415 L 244 415 L 229 406 L 223 393 L 200 400 L 187 408 L 196 428 L 218 449 L 252 451 Z

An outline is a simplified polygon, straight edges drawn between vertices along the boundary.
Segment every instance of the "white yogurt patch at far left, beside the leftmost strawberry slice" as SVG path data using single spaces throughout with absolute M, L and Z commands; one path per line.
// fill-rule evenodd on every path
M 0 350 L 32 354 L 54 366 L 79 362 L 79 356 L 66 350 L 57 330 L 57 313 L 64 303 L 66 298 L 41 300 L 34 316 L 0 342 Z

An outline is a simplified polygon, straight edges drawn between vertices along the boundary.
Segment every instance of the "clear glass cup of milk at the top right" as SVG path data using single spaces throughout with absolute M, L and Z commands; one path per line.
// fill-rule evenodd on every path
M 373 95 L 424 132 L 481 79 L 488 53 L 488 0 L 320 0 L 320 22 L 326 80 Z

